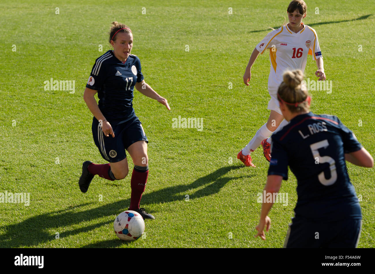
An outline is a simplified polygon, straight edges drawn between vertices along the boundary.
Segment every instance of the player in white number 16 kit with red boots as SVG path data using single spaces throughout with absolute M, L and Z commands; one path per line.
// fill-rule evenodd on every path
M 263 54 L 266 50 L 270 52 L 271 68 L 268 77 L 268 91 L 271 100 L 267 109 L 271 112 L 267 123 L 255 133 L 251 141 L 237 155 L 237 158 L 246 166 L 255 167 L 250 154 L 260 144 L 263 146 L 264 156 L 270 161 L 270 141 L 267 141 L 267 138 L 276 129 L 278 131 L 288 123 L 284 120 L 276 97 L 284 71 L 295 69 L 305 71 L 307 57 L 310 54 L 317 63 L 318 69 L 315 71 L 315 75 L 318 80 L 326 80 L 317 33 L 313 28 L 302 22 L 302 19 L 306 17 L 306 10 L 305 1 L 291 1 L 287 9 L 289 23 L 267 34 L 251 54 L 243 75 L 243 81 L 247 86 L 249 86 L 251 79 L 251 67 L 258 55 Z

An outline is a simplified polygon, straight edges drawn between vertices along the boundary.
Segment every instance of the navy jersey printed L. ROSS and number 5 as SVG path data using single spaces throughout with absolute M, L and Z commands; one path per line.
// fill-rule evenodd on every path
M 336 116 L 298 115 L 272 135 L 268 175 L 287 180 L 289 165 L 297 178 L 296 217 L 322 222 L 362 219 L 345 163 L 345 153 L 361 148 Z

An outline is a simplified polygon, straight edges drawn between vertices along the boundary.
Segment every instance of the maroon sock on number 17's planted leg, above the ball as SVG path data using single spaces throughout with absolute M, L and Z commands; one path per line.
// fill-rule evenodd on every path
M 134 166 L 132 179 L 130 180 L 130 187 L 132 188 L 132 194 L 130 196 L 130 207 L 129 210 L 136 210 L 139 208 L 139 202 L 142 198 L 142 193 L 146 188 L 148 177 L 148 166 L 140 167 Z

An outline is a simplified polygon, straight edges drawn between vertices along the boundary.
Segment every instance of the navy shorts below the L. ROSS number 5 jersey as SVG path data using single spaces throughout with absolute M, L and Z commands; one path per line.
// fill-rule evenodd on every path
M 361 230 L 361 219 L 318 223 L 302 217 L 294 217 L 289 224 L 284 247 L 356 248 Z

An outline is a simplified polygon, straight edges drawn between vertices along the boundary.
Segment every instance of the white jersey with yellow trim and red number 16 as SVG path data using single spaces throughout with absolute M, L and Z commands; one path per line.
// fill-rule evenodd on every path
M 321 58 L 322 54 L 316 31 L 308 25 L 297 33 L 287 25 L 271 31 L 257 45 L 257 50 L 263 54 L 266 49 L 270 51 L 271 69 L 268 77 L 268 90 L 270 94 L 277 94 L 278 87 L 286 70 L 300 69 L 305 71 L 307 55 L 312 55 L 314 60 Z

